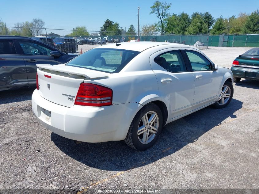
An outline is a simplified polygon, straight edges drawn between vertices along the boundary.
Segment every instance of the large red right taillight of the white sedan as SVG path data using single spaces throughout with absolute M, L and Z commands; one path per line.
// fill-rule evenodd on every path
M 83 106 L 112 105 L 112 89 L 96 84 L 81 83 L 74 104 Z

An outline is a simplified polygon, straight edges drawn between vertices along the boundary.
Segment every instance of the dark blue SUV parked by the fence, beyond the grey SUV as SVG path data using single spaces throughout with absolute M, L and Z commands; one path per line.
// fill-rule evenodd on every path
M 77 43 L 74 38 L 60 37 L 54 38 L 56 48 L 62 52 L 76 53 Z

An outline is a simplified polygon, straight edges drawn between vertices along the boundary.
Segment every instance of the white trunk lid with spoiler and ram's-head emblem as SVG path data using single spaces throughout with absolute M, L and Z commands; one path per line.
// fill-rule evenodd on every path
M 48 101 L 66 107 L 74 105 L 79 86 L 85 79 L 109 76 L 109 73 L 65 64 L 37 64 L 37 67 L 40 95 Z

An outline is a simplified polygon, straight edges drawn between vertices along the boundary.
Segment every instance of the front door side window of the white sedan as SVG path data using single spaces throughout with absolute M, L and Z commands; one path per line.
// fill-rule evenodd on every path
M 193 71 L 208 71 L 211 69 L 211 64 L 206 57 L 196 51 L 185 50 L 190 60 Z

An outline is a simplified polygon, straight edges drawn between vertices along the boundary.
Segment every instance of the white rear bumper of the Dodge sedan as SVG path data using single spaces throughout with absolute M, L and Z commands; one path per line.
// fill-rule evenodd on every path
M 45 119 L 43 108 L 51 112 L 49 120 Z M 125 139 L 138 108 L 139 104 L 135 102 L 68 108 L 44 99 L 37 89 L 32 94 L 32 111 L 46 128 L 68 139 L 89 143 Z

